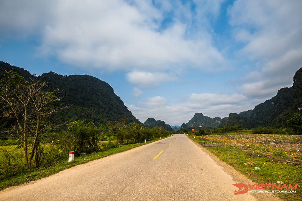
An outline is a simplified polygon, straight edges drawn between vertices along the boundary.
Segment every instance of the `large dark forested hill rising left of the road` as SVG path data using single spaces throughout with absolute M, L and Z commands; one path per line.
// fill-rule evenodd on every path
M 1 75 L 5 71 L 13 70 L 23 77 L 34 77 L 28 71 L 1 62 Z M 46 81 L 48 87 L 45 90 L 59 89 L 60 102 L 58 104 L 70 105 L 54 116 L 55 123 L 94 120 L 95 124 L 107 124 L 109 121 L 119 121 L 124 116 L 128 123 L 142 124 L 131 111 L 124 105 L 112 87 L 90 75 L 62 76 L 54 72 L 42 74 L 37 77 Z M 2 125 L 5 120 L 0 119 Z

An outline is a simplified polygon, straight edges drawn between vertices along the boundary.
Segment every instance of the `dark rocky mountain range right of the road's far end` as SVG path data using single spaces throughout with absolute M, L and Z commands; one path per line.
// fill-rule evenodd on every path
M 302 68 L 294 75 L 292 87 L 281 88 L 277 95 L 256 105 L 253 110 L 239 114 L 230 113 L 227 118 L 210 118 L 202 113 L 195 113 L 194 117 L 182 128 L 187 127 L 224 127 L 242 125 L 243 128 L 286 127 L 290 112 L 302 111 Z

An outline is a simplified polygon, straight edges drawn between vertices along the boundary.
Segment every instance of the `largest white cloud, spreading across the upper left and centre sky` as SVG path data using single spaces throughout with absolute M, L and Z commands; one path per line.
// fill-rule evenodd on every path
M 225 68 L 209 34 L 185 39 L 188 24 L 178 19 L 157 31 L 164 11 L 148 2 L 59 1 L 40 51 L 85 68 L 163 71 L 188 63 L 207 71 Z

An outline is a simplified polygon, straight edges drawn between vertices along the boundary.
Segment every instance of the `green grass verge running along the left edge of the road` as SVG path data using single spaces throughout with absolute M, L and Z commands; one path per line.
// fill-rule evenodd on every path
M 164 138 L 165 137 L 162 137 L 162 139 L 164 139 Z M 65 170 L 67 168 L 71 168 L 75 165 L 84 164 L 84 163 L 87 163 L 89 161 L 93 161 L 93 160 L 96 160 L 96 159 L 101 159 L 101 158 L 104 158 L 104 157 L 109 156 L 109 155 L 124 152 L 124 151 L 127 151 L 129 149 L 133 149 L 133 148 L 138 147 L 138 146 L 142 146 L 142 145 L 145 145 L 145 144 L 148 144 L 148 143 L 155 142 L 157 140 L 159 140 L 159 139 L 150 140 L 150 141 L 147 141 L 146 143 L 123 145 L 123 146 L 113 148 L 113 149 L 109 149 L 109 150 L 106 150 L 106 151 L 101 151 L 101 152 L 98 152 L 98 153 L 87 154 L 87 155 L 75 157 L 73 162 L 68 162 L 68 156 L 67 156 L 65 162 L 59 162 L 59 163 L 57 163 L 57 164 L 55 164 L 51 167 L 47 167 L 47 168 L 36 168 L 34 171 L 30 171 L 30 172 L 26 171 L 26 167 L 24 167 L 25 166 L 24 165 L 24 166 L 21 167 L 21 168 L 24 168 L 24 169 L 20 169 L 20 172 L 21 172 L 20 174 L 15 175 L 13 177 L 3 179 L 3 180 L 0 180 L 0 190 L 11 187 L 11 186 L 23 184 L 23 183 L 26 183 L 26 182 L 29 182 L 29 181 L 38 180 L 40 178 L 47 177 L 47 176 L 50 176 L 52 174 L 56 174 L 59 171 Z M 10 151 L 14 151 L 15 147 L 16 146 L 5 146 L 5 148 L 7 148 Z M 0 148 L 1 148 L 1 146 L 0 146 Z M 18 150 L 18 151 L 20 152 L 20 150 Z

